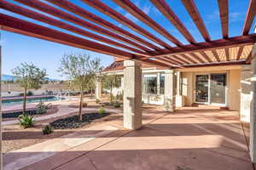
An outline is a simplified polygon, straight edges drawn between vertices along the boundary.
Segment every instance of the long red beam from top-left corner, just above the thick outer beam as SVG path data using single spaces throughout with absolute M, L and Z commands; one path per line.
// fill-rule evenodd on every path
M 119 43 L 119 42 L 114 42 L 113 40 L 108 39 L 107 37 L 98 36 L 94 33 L 89 32 L 89 31 L 85 31 L 83 29 L 80 29 L 79 27 L 69 25 L 69 24 L 67 24 L 65 22 L 62 22 L 60 20 L 55 20 L 54 18 L 51 18 L 47 15 L 39 14 L 39 13 L 34 12 L 34 11 L 28 9 L 28 8 L 20 7 L 18 5 L 15 5 L 14 3 L 9 3 L 7 1 L 0 1 L 0 8 L 4 8 L 4 9 L 9 10 L 9 11 L 15 13 L 15 14 L 20 14 L 20 15 L 26 16 L 28 18 L 31 18 L 33 20 L 38 20 L 38 21 L 47 23 L 51 26 L 57 26 L 57 27 L 60 27 L 62 29 L 65 29 L 67 31 L 72 31 L 72 32 L 80 34 L 84 37 L 90 37 L 90 38 L 95 39 L 97 41 L 105 42 L 107 44 L 110 44 L 110 45 L 113 45 L 113 46 L 116 46 L 116 47 L 119 47 L 119 48 L 128 49 L 131 52 L 135 52 L 137 54 L 145 54 L 142 51 L 138 50 L 137 48 L 131 48 L 131 47 L 125 45 L 125 44 L 122 44 L 122 43 Z

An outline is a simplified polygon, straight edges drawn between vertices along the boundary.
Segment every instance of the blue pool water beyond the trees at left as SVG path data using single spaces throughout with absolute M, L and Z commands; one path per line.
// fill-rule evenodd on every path
M 57 101 L 62 99 L 65 99 L 65 98 L 60 99 L 60 98 L 56 98 L 55 96 L 39 97 L 34 99 L 26 99 L 26 103 L 38 103 L 40 101 Z M 8 100 L 2 101 L 3 105 L 17 105 L 22 103 L 23 103 L 23 99 L 8 99 Z

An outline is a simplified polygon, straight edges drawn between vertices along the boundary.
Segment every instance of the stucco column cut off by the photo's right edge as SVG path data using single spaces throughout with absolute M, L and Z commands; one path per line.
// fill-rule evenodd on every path
M 251 65 L 253 73 L 251 93 L 253 94 L 253 99 L 250 111 L 250 156 L 253 163 L 256 163 L 256 43 L 253 45 Z

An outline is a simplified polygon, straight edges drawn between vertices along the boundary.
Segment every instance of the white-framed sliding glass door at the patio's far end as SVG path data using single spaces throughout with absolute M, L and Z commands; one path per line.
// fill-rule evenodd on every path
M 195 75 L 195 102 L 226 105 L 226 74 Z

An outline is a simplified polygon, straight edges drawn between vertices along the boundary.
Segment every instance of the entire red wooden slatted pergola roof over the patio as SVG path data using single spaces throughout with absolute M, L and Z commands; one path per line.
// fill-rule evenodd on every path
M 68 0 L 15 0 L 12 2 L 0 0 L 0 8 L 26 16 L 32 20 L 38 20 L 40 23 L 46 23 L 49 26 L 61 28 L 70 33 L 32 21 L 20 20 L 17 17 L 3 13 L 0 13 L 0 26 L 4 31 L 38 37 L 102 54 L 110 54 L 119 59 L 139 59 L 147 64 L 168 68 L 198 65 L 235 65 L 250 62 L 250 53 L 253 43 L 256 42 L 256 34 L 250 34 L 256 14 L 256 0 L 248 1 L 247 15 L 243 19 L 241 36 L 238 37 L 230 37 L 229 34 L 229 1 L 218 0 L 218 13 L 222 31 L 222 38 L 218 40 L 212 40 L 211 32 L 207 30 L 195 2 L 193 0 L 181 0 L 181 5 L 187 10 L 189 17 L 201 33 L 204 39 L 203 42 L 195 40 L 195 35 L 184 25 L 185 21 L 180 20 L 172 10 L 174 8 L 172 4 L 167 3 L 166 0 L 150 0 L 162 14 L 161 17 L 166 17 L 172 26 L 175 26 L 177 31 L 189 42 L 188 44 L 184 44 L 173 35 L 173 32 L 160 26 L 158 20 L 153 20 L 131 0 L 112 1 L 172 43 L 154 35 L 151 31 L 148 31 L 147 27 L 138 26 L 125 14 L 119 13 L 117 8 L 111 8 L 101 0 L 81 0 L 81 2 L 95 8 L 102 14 L 108 15 L 119 24 L 137 32 L 140 36 Z M 201 3 L 207 3 L 207 1 Z M 73 33 L 79 36 L 73 35 Z

